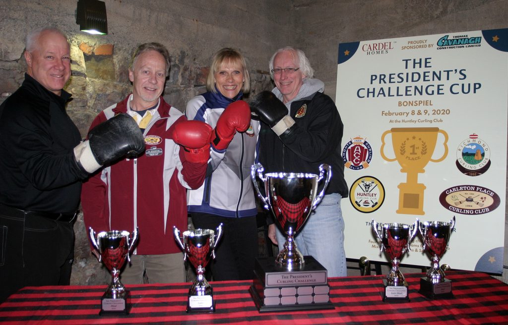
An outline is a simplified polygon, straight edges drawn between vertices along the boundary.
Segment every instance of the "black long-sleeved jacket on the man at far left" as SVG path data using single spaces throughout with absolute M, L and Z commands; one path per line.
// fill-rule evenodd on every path
M 87 175 L 74 157 L 81 136 L 65 111 L 70 97 L 25 74 L 0 105 L 0 203 L 52 213 L 77 210 L 80 179 Z

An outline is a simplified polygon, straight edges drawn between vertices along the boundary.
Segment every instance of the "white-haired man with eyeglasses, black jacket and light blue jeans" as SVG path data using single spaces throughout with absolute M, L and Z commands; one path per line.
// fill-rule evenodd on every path
M 275 88 L 258 94 L 251 110 L 264 122 L 259 135 L 259 161 L 265 172 L 317 173 L 323 163 L 332 178 L 321 203 L 295 237 L 298 249 L 313 256 L 328 276 L 346 276 L 344 221 L 340 199 L 347 197 L 340 143 L 343 124 L 324 83 L 313 79 L 314 70 L 303 51 L 279 49 L 270 59 Z M 282 249 L 284 236 L 275 225 L 268 236 Z

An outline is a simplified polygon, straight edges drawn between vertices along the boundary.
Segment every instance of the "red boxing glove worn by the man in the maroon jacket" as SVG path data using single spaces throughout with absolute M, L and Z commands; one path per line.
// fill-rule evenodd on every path
M 206 163 L 210 158 L 210 135 L 212 127 L 201 121 L 182 121 L 175 124 L 170 134 L 183 149 L 185 160 Z

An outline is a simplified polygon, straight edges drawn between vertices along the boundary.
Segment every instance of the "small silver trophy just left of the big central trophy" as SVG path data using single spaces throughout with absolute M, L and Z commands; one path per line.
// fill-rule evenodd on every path
M 183 260 L 188 259 L 197 273 L 188 292 L 187 312 L 215 311 L 213 290 L 204 274 L 210 259 L 215 259 L 215 248 L 223 234 L 222 227 L 223 224 L 220 224 L 215 232 L 210 229 L 187 230 L 183 232 L 183 238 L 180 238 L 178 228 L 173 227 L 175 240 L 183 250 Z

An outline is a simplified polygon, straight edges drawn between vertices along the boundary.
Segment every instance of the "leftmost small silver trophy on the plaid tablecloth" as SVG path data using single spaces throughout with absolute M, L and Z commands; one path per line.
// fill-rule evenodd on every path
M 103 313 L 129 313 L 129 291 L 120 282 L 120 269 L 125 261 L 131 261 L 129 253 L 138 240 L 138 229 L 128 231 L 103 231 L 96 235 L 93 229 L 88 229 L 88 236 L 99 256 L 99 262 L 111 272 L 111 284 L 101 299 L 101 311 Z

